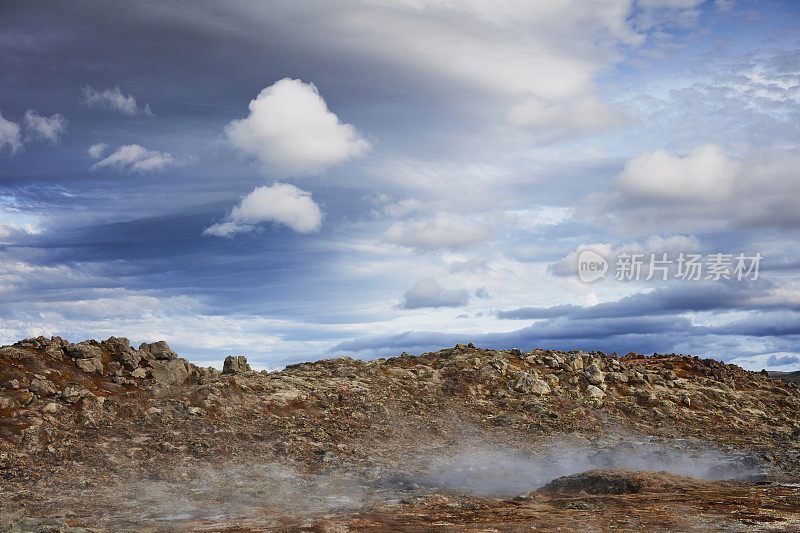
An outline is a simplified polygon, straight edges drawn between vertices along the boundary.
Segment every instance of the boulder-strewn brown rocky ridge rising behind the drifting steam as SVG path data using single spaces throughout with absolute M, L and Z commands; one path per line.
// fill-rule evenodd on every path
M 469 344 L 255 372 L 243 357 L 227 358 L 223 371 L 197 367 L 164 341 L 133 349 L 124 338 L 39 337 L 0 348 L 6 510 L 47 515 L 46 501 L 18 499 L 25 491 L 107 486 L 143 473 L 181 479 L 186 465 L 256 457 L 300 472 L 413 477 L 425 469 L 421 450 L 451 449 L 465 434 L 531 454 L 554 439 L 598 452 L 626 439 L 701 443 L 793 477 L 800 390 L 675 354 Z

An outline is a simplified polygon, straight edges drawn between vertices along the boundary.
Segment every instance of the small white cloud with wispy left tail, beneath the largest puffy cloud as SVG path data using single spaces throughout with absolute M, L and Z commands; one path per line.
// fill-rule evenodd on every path
M 257 187 L 244 196 L 223 222 L 209 226 L 203 235 L 232 237 L 248 233 L 264 222 L 283 224 L 298 233 L 311 233 L 322 225 L 322 210 L 311 193 L 287 183 Z

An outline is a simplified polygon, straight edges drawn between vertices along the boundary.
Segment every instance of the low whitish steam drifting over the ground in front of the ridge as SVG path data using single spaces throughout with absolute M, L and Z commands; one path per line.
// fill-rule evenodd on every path
M 275 522 L 278 527 L 442 491 L 512 497 L 593 468 L 666 470 L 705 479 L 749 478 L 763 468 L 750 455 L 681 441 L 627 441 L 605 448 L 551 442 L 531 453 L 491 447 L 473 438 L 457 447 L 417 450 L 416 456 L 396 451 L 373 458 L 369 465 L 339 464 L 315 473 L 277 462 L 258 464 L 253 458 L 214 466 L 187 459 L 164 468 L 150 465 L 142 472 L 145 477 L 60 490 L 41 503 L 51 516 L 81 516 L 90 498 L 104 515 L 93 520 L 114 530 L 194 527 L 204 521 L 254 517 L 262 525 Z

